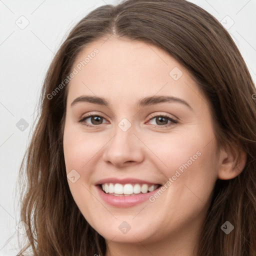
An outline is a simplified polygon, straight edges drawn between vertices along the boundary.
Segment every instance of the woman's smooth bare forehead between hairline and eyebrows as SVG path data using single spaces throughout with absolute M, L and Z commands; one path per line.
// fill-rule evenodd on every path
M 179 62 L 162 48 L 143 41 L 111 37 L 93 41 L 79 52 L 74 68 L 77 74 L 68 85 L 69 101 L 82 94 L 123 100 L 155 94 L 188 101 L 202 97 Z

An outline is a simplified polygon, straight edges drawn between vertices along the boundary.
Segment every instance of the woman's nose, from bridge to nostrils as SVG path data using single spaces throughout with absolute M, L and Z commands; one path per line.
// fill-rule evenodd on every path
M 116 127 L 114 136 L 104 147 L 105 150 L 102 157 L 107 164 L 125 167 L 143 161 L 144 144 L 131 127 L 126 131 L 123 131 L 118 126 Z

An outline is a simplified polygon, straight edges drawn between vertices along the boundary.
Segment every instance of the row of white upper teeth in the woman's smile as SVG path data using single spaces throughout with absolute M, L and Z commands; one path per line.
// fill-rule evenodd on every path
M 151 192 L 155 190 L 158 185 L 157 184 L 119 184 L 119 183 L 103 183 L 101 184 L 102 189 L 105 193 L 115 193 L 115 194 L 139 194 L 147 193 L 147 191 Z

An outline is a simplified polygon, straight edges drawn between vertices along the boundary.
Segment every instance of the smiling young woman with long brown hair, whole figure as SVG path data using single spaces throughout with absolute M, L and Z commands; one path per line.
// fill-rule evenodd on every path
M 44 80 L 19 253 L 256 255 L 255 93 L 228 32 L 193 3 L 91 11 Z

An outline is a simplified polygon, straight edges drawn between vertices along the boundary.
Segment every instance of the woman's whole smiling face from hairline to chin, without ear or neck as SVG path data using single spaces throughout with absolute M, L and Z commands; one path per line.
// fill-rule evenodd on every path
M 161 48 L 112 37 L 86 46 L 72 70 L 63 147 L 84 218 L 118 243 L 196 233 L 218 161 L 209 107 L 189 73 Z

